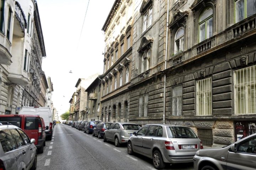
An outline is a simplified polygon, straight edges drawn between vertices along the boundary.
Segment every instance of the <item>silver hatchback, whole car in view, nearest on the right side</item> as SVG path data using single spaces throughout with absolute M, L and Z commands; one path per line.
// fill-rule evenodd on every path
M 163 169 L 165 163 L 189 163 L 199 149 L 202 142 L 186 126 L 167 124 L 144 125 L 127 143 L 128 154 L 134 152 L 153 159 L 156 169 Z

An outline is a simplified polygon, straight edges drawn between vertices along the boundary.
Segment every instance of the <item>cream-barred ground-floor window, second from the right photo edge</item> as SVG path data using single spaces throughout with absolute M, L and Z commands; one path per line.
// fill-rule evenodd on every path
M 212 78 L 196 82 L 197 115 L 212 115 Z

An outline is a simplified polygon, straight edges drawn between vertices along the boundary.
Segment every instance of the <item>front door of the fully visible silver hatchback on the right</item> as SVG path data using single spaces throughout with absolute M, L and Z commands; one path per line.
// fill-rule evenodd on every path
M 149 125 L 145 125 L 140 128 L 136 136 L 131 137 L 132 147 L 135 152 L 142 153 L 143 137 L 145 136 Z

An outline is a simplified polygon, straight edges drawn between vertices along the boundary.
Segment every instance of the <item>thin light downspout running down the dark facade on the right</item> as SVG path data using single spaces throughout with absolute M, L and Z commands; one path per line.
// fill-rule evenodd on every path
M 167 65 L 167 47 L 168 47 L 168 25 L 169 25 L 169 0 L 167 0 L 167 18 L 166 18 L 166 42 L 165 42 L 165 66 L 164 71 L 166 70 Z M 164 112 L 163 112 L 163 124 L 165 124 L 165 105 L 166 105 L 166 73 L 164 72 Z

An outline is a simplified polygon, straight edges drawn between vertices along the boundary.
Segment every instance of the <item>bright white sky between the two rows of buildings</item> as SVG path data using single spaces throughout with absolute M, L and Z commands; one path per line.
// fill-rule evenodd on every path
M 37 0 L 46 48 L 42 70 L 52 80 L 52 101 L 59 115 L 68 111 L 79 78 L 103 73 L 105 35 L 101 29 L 113 3 L 114 0 Z

